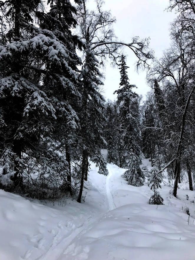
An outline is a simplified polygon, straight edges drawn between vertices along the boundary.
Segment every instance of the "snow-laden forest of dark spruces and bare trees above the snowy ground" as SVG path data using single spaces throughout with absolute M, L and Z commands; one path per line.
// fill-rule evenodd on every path
M 170 24 L 171 43 L 160 58 L 148 37 L 119 39 L 113 27 L 117 21 L 104 1 L 95 0 L 93 9 L 90 2 L 0 1 L 0 189 L 53 205 L 75 201 L 82 210 L 90 172 L 97 168 L 102 175 L 97 178 L 106 180 L 110 203 L 110 172 L 122 168 L 121 183 L 134 193 L 147 187 L 150 206 L 165 207 L 166 196 L 181 200 L 184 182 L 192 200 L 195 1 L 168 1 L 165 11 L 176 18 Z M 135 69 L 146 72 L 146 96 L 131 84 L 129 53 L 136 57 Z M 120 74 L 115 100 L 104 97 L 108 64 Z M 110 210 L 117 208 L 113 203 Z M 190 217 L 187 206 L 186 213 Z M 78 259 L 96 259 L 83 254 Z

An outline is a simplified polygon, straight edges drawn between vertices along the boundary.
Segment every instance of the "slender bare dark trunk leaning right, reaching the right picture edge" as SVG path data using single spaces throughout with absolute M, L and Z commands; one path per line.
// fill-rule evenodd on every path
M 176 162 L 175 162 L 175 173 L 176 173 L 176 177 L 175 177 L 175 182 L 174 182 L 174 188 L 173 188 L 173 195 L 176 197 L 177 196 L 177 186 L 178 186 L 178 179 L 179 179 L 179 175 L 178 175 L 178 171 L 177 171 L 177 167 L 178 167 L 178 162 L 179 162 L 179 154 L 180 154 L 180 149 L 181 149 L 181 144 L 182 144 L 182 139 L 183 139 L 183 134 L 184 134 L 184 126 L 185 126 L 185 121 L 186 121 L 186 113 L 187 113 L 187 110 L 188 110 L 188 106 L 189 106 L 189 103 L 190 103 L 190 98 L 192 96 L 192 94 L 194 93 L 194 88 L 195 88 L 195 85 L 193 86 L 189 96 L 188 96 L 188 100 L 186 102 L 186 106 L 185 106 L 185 109 L 184 109 L 184 113 L 183 113 L 183 116 L 182 116 L 182 122 L 181 122 L 181 133 L 180 133 L 180 138 L 179 138 L 179 144 L 178 144 L 178 147 L 177 147 L 177 153 L 176 153 Z

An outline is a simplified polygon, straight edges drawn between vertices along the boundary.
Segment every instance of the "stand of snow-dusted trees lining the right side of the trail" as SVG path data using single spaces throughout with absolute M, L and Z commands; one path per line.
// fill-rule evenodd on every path
M 187 174 L 190 190 L 193 190 L 192 176 L 195 178 L 195 1 L 170 0 L 168 11 L 173 9 L 178 15 L 170 27 L 170 47 L 160 59 L 154 58 L 147 73 L 151 91 L 141 101 L 142 97 L 131 92 L 133 86 L 124 83 L 129 93 L 125 87 L 117 90 L 117 101 L 106 105 L 105 137 L 110 162 L 129 168 L 124 175 L 129 184 L 136 179 L 132 174 L 135 165 L 140 165 L 135 151 L 139 151 L 138 158 L 141 152 L 150 157 L 154 165 L 158 149 L 162 167 L 157 167 L 156 174 L 161 175 L 167 169 L 176 197 L 184 175 Z M 120 73 L 123 85 L 122 69 Z M 141 180 L 139 171 L 136 168 Z M 141 185 L 141 181 L 137 184 Z

